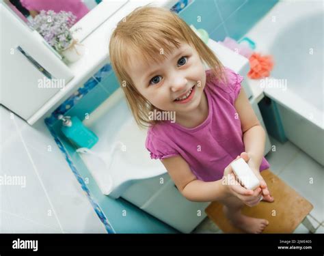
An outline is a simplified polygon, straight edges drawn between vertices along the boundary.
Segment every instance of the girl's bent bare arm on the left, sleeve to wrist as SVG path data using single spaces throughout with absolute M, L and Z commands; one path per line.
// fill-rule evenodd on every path
M 217 201 L 229 197 L 227 186 L 222 180 L 203 182 L 191 172 L 182 156 L 172 156 L 161 160 L 180 193 L 190 201 Z

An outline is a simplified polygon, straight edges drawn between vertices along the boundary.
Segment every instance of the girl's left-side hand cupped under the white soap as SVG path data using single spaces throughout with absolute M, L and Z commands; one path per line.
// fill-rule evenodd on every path
M 240 158 L 240 156 L 237 156 L 235 160 L 238 158 Z M 230 195 L 234 195 L 235 197 L 239 198 L 249 207 L 257 205 L 260 202 L 262 189 L 258 187 L 255 190 L 251 190 L 241 186 L 241 184 L 239 184 L 239 182 L 237 182 L 235 179 L 235 175 L 230 165 L 224 169 L 222 184 L 226 186 L 226 190 Z

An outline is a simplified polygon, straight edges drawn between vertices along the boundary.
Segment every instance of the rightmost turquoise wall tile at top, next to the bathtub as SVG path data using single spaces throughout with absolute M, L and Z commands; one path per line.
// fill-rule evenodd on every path
M 225 21 L 230 37 L 239 40 L 277 2 L 278 0 L 248 0 Z

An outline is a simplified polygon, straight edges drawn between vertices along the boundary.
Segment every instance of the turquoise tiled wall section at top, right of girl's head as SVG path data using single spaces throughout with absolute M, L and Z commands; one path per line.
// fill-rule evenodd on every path
M 211 39 L 239 40 L 278 0 L 195 0 L 179 12 L 188 25 L 205 29 Z M 198 16 L 201 22 L 198 22 Z

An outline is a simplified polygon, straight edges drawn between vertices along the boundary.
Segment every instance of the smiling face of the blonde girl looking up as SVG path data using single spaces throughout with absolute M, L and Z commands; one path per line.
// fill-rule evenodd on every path
M 163 63 L 131 58 L 129 75 L 139 93 L 163 111 L 187 113 L 202 99 L 206 73 L 195 48 L 181 44 Z

